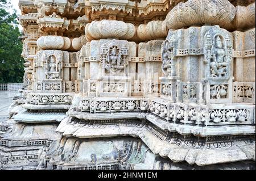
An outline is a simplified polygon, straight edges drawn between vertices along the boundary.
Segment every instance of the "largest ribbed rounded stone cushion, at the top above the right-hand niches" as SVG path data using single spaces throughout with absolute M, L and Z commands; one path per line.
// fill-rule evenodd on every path
M 228 0 L 188 0 L 167 14 L 166 23 L 174 30 L 201 24 L 225 26 L 235 15 L 236 8 Z

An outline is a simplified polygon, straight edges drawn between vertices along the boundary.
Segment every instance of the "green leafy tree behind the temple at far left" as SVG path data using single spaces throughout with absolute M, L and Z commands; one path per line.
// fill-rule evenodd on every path
M 18 16 L 6 11 L 10 8 L 9 0 L 0 0 L 0 83 L 22 82 L 24 74 Z

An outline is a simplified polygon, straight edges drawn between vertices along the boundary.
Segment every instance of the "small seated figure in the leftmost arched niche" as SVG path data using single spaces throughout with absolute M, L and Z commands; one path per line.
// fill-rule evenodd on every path
M 49 56 L 46 69 L 47 78 L 54 79 L 60 77 L 55 56 Z

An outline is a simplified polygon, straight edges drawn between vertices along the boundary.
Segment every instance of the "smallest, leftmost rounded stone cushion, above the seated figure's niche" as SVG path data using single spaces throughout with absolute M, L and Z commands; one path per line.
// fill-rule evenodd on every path
M 41 36 L 36 44 L 42 49 L 67 50 L 71 47 L 68 37 L 56 35 Z

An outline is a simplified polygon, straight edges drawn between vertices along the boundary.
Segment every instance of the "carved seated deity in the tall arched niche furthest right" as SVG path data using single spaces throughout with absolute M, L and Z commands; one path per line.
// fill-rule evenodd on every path
M 220 36 L 215 39 L 215 46 L 213 48 L 212 61 L 210 62 L 212 77 L 225 77 L 227 73 L 228 62 L 226 60 L 226 53 L 222 44 Z

